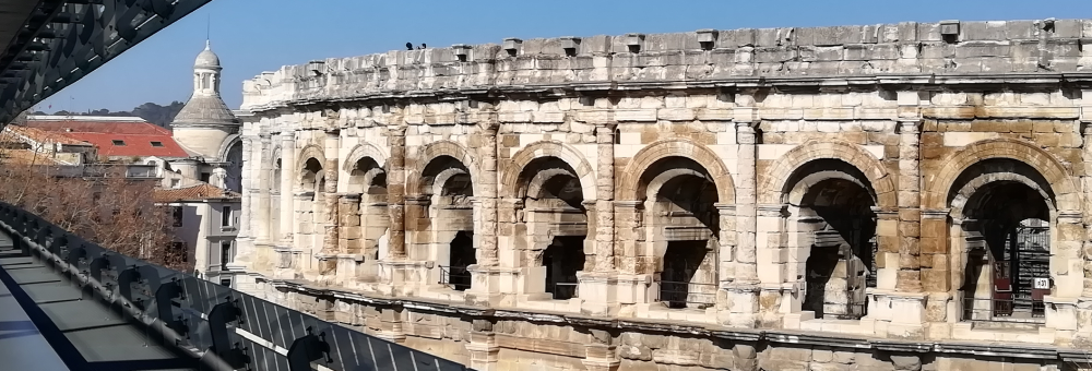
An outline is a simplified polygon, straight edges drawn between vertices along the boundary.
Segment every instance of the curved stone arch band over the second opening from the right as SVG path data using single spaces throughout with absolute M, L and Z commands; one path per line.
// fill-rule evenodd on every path
M 778 158 L 758 188 L 758 202 L 760 204 L 784 203 L 785 198 L 792 191 L 786 189 L 786 187 L 792 187 L 788 184 L 791 177 L 798 168 L 817 159 L 836 159 L 860 170 L 876 192 L 876 206 L 883 210 L 898 208 L 894 180 L 880 159 L 859 145 L 839 141 L 808 141 Z

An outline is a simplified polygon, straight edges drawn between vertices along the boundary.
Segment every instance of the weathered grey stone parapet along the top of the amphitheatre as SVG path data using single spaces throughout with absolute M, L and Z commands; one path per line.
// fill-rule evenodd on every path
M 1092 20 L 505 39 L 287 65 L 244 83 L 244 109 L 413 92 L 746 77 L 1092 71 Z M 1083 51 L 1082 51 L 1083 49 Z

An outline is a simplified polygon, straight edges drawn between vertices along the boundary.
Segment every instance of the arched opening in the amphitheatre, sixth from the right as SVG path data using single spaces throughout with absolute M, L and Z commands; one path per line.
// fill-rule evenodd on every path
M 343 246 L 345 253 L 364 256 L 357 278 L 370 280 L 379 276 L 380 250 L 385 250 L 383 237 L 391 225 L 387 210 L 387 171 L 375 158 L 360 158 L 348 171 L 347 190 L 359 194 L 360 202 L 342 205 L 346 208 L 342 211 L 342 223 L 347 224 L 347 228 L 360 228 L 360 232 L 342 234 Z

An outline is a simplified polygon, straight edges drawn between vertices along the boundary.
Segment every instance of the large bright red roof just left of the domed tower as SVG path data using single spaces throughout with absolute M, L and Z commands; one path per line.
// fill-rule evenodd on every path
M 75 141 L 87 142 L 98 148 L 100 157 L 120 156 L 158 156 L 189 157 L 182 149 L 170 130 L 140 121 L 80 121 L 79 117 L 71 120 L 27 120 L 26 125 L 41 131 L 56 133 Z M 115 145 L 121 141 L 122 145 Z M 161 146 L 153 146 L 158 142 Z

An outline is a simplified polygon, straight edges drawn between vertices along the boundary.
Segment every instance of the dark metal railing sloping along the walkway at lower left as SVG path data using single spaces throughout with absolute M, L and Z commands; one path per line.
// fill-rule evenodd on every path
M 40 259 L 76 285 L 91 288 L 99 300 L 143 323 L 155 340 L 187 349 L 217 370 L 309 371 L 316 364 L 337 371 L 468 370 L 216 283 L 109 251 L 3 202 L 0 229 L 11 235 L 24 253 Z

